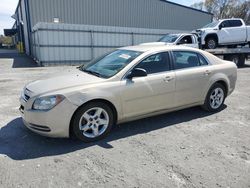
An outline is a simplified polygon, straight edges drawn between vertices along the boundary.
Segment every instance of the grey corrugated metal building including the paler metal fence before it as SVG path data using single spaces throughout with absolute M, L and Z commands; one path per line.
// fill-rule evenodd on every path
M 38 61 L 51 63 L 88 61 L 117 46 L 157 40 L 167 32 L 191 31 L 211 22 L 212 16 L 164 0 L 20 0 L 15 14 L 19 41 L 23 42 L 26 53 Z M 55 26 L 53 22 L 59 23 Z M 57 42 L 44 43 L 56 35 L 61 36 Z M 112 36 L 115 41 L 120 38 L 120 42 L 111 44 Z M 79 44 L 79 37 L 85 38 L 85 42 Z M 101 40 L 102 45 L 96 40 Z M 77 59 L 74 54 L 71 59 L 41 56 L 52 47 L 64 48 L 59 50 L 61 54 L 70 49 L 73 53 L 72 49 L 89 48 L 91 55 L 85 58 L 78 55 Z M 97 48 L 102 50 L 95 52 Z

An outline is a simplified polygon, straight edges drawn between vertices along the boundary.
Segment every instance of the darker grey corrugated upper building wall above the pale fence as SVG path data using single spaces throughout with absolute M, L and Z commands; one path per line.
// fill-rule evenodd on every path
M 212 15 L 162 0 L 29 0 L 31 26 L 38 22 L 193 30 Z

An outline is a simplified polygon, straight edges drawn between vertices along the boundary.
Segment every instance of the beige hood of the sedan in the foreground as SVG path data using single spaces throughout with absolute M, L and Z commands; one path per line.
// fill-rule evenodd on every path
M 97 83 L 103 80 L 103 78 L 75 69 L 45 76 L 27 84 L 26 89 L 28 89 L 31 96 L 34 96 L 60 89 Z

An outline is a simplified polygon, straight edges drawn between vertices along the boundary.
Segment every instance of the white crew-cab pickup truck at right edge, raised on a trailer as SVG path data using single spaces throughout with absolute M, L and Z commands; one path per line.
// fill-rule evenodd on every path
M 206 49 L 215 49 L 217 46 L 236 47 L 247 43 L 250 47 L 250 26 L 246 26 L 242 19 L 214 21 L 196 32 L 200 34 L 202 47 Z

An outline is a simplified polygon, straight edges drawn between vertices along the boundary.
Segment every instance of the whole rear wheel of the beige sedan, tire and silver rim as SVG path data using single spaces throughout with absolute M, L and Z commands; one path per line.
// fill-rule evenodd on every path
M 226 98 L 226 89 L 220 83 L 215 83 L 208 91 L 202 108 L 209 112 L 220 111 Z

